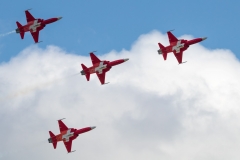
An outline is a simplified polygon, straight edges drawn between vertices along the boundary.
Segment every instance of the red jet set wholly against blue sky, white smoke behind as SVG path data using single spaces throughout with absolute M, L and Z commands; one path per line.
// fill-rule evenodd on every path
M 27 24 L 25 26 L 22 26 L 18 21 L 17 26 L 18 28 L 16 29 L 16 33 L 20 33 L 21 38 L 24 38 L 24 33 L 30 31 L 30 33 L 33 36 L 33 39 L 35 43 L 38 43 L 38 36 L 39 36 L 39 31 L 42 30 L 47 24 L 56 22 L 62 17 L 58 18 L 50 18 L 47 20 L 44 19 L 35 19 L 31 13 L 28 12 L 28 10 L 25 11 L 26 18 L 27 18 Z

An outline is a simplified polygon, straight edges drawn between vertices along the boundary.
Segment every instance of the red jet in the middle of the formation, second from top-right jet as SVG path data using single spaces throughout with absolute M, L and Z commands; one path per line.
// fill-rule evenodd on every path
M 87 78 L 87 81 L 90 79 L 90 74 L 96 73 L 101 84 L 107 84 L 105 83 L 105 75 L 106 72 L 109 71 L 113 66 L 116 66 L 118 64 L 121 64 L 123 62 L 128 61 L 129 59 L 119 59 L 116 61 L 100 61 L 93 53 L 90 53 L 90 57 L 92 60 L 92 67 L 87 68 L 84 64 L 82 65 L 82 71 L 81 74 L 85 75 Z

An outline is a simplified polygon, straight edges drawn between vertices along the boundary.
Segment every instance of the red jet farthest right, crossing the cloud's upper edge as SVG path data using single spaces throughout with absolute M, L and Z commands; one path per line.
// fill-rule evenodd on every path
M 158 43 L 160 47 L 160 49 L 158 50 L 158 54 L 162 54 L 164 60 L 166 60 L 167 54 L 170 52 L 173 52 L 179 64 L 185 63 L 185 62 L 182 62 L 183 51 L 185 51 L 190 45 L 199 43 L 207 39 L 207 37 L 204 37 L 204 38 L 196 38 L 192 40 L 184 40 L 184 39 L 178 40 L 170 31 L 168 31 L 167 34 L 168 34 L 170 45 L 167 47 L 164 47 L 161 43 Z

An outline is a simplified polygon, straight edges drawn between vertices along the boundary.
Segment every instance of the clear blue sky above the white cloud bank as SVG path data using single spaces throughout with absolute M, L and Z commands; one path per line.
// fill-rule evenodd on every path
M 93 50 L 103 54 L 129 49 L 140 35 L 152 30 L 175 29 L 176 36 L 207 36 L 205 47 L 230 49 L 239 58 L 238 6 L 238 1 L 223 0 L 5 1 L 0 6 L 0 34 L 16 29 L 16 21 L 26 23 L 24 10 L 33 8 L 35 18 L 63 17 L 41 31 L 39 40 L 43 42 L 38 46 L 42 48 L 57 45 L 74 54 L 85 55 Z M 15 33 L 0 37 L 0 61 L 9 61 L 33 42 L 29 33 L 24 40 Z

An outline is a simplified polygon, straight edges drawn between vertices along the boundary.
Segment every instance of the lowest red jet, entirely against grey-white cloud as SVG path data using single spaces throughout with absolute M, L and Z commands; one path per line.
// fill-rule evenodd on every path
M 61 133 L 55 136 L 51 131 L 49 131 L 51 138 L 48 139 L 48 142 L 52 143 L 53 148 L 56 149 L 57 142 L 63 141 L 68 153 L 74 152 L 74 151 L 71 151 L 72 141 L 74 139 L 76 139 L 79 136 L 79 134 L 91 131 L 92 129 L 94 129 L 96 127 L 86 127 L 86 128 L 82 128 L 82 129 L 78 129 L 78 130 L 74 129 L 74 128 L 68 128 L 62 122 L 63 119 L 58 120 L 58 125 L 59 125 L 59 129 L 60 129 Z

